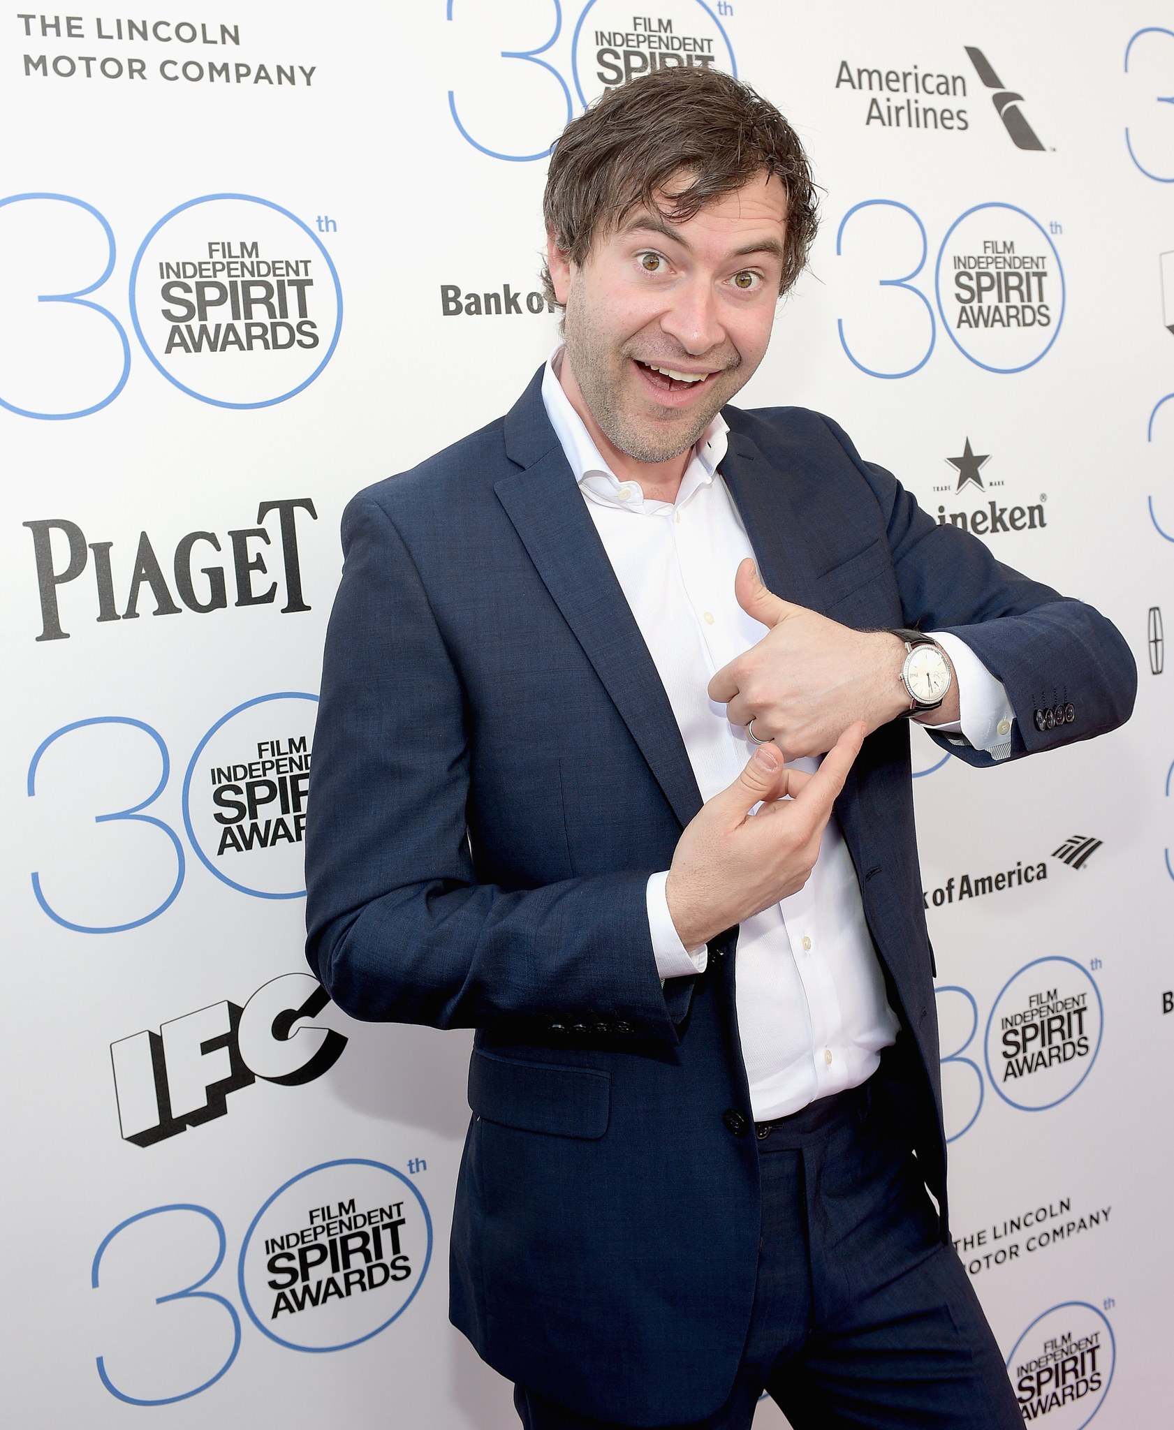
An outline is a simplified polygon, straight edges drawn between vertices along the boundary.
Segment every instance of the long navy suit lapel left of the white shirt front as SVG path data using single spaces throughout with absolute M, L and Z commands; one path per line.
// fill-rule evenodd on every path
M 656 666 L 546 419 L 541 376 L 505 425 L 506 450 L 523 469 L 495 490 L 684 828 L 701 792 Z

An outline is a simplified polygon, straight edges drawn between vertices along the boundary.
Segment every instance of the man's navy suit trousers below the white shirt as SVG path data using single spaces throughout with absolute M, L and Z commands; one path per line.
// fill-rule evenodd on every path
M 794 1430 L 1021 1430 L 879 1078 L 756 1133 L 762 1237 L 742 1363 L 721 1410 L 681 1430 L 746 1430 L 764 1390 Z M 523 1386 L 513 1401 L 526 1430 L 603 1427 Z

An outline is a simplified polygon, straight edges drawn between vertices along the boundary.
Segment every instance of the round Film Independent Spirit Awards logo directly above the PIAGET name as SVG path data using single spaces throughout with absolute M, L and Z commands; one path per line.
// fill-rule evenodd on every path
M 287 209 L 209 194 L 172 209 L 130 272 L 144 352 L 182 392 L 219 408 L 267 408 L 309 386 L 342 326 L 330 255 Z

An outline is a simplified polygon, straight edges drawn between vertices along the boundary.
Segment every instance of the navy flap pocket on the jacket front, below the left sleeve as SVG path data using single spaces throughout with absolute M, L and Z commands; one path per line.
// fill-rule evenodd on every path
M 611 1103 L 611 1072 L 522 1062 L 480 1050 L 469 1061 L 469 1107 L 503 1127 L 591 1141 L 606 1133 Z

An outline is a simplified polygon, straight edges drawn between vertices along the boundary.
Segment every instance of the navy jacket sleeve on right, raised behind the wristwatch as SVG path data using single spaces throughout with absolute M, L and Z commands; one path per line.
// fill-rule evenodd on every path
M 824 420 L 881 508 L 905 623 L 957 635 L 1002 681 L 1015 711 L 1011 758 L 1124 725 L 1137 695 L 1137 665 L 1113 622 L 1004 566 L 968 532 L 935 522 L 895 476 L 862 462 L 841 428 Z M 1035 712 L 1057 705 L 1071 705 L 1074 719 L 1040 729 Z M 928 734 L 967 764 L 995 764 L 957 735 Z

